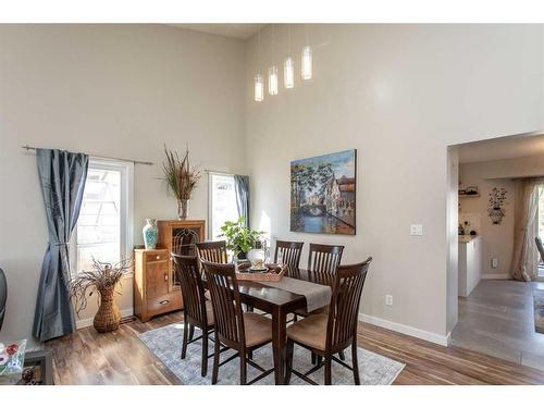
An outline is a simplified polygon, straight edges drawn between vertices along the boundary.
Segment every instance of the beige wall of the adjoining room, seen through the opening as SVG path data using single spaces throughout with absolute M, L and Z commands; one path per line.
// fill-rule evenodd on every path
M 459 222 L 465 218 L 479 220 L 475 230 L 482 235 L 483 277 L 511 276 L 516 205 L 516 184 L 512 178 L 537 175 L 544 175 L 544 156 L 489 160 L 459 166 L 461 187 L 478 186 L 480 191 L 480 197 L 460 200 Z M 494 187 L 507 190 L 505 217 L 498 225 L 493 224 L 487 214 L 490 193 Z M 498 259 L 497 269 L 491 267 L 492 258 Z

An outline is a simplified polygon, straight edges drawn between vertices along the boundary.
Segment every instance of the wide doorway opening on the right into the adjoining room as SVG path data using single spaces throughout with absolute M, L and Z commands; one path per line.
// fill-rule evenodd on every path
M 456 172 L 448 177 L 450 345 L 544 370 L 533 301 L 533 293 L 544 290 L 541 257 L 532 263 L 531 282 L 512 280 L 518 181 L 544 175 L 544 132 L 449 150 L 449 172 Z M 544 240 L 544 186 L 539 189 L 533 243 L 536 236 Z

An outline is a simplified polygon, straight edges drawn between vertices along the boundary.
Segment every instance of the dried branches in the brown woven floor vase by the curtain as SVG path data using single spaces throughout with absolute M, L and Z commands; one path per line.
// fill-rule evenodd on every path
M 123 275 L 131 271 L 132 265 L 132 259 L 124 259 L 112 265 L 92 258 L 92 270 L 79 272 L 70 281 L 70 297 L 75 300 L 76 314 L 79 316 L 79 312 L 85 310 L 87 298 L 95 292 L 102 294 L 115 287 Z

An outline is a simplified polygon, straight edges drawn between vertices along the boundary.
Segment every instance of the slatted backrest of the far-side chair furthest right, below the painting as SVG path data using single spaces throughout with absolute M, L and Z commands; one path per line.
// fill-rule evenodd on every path
M 310 244 L 308 271 L 317 283 L 332 286 L 336 268 L 342 261 L 343 245 Z

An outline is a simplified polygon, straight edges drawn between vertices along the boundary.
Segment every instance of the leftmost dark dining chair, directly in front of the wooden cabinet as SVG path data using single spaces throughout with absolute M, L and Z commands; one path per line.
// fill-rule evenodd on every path
M 202 339 L 201 375 L 208 373 L 208 336 L 213 332 L 215 320 L 211 302 L 205 296 L 205 286 L 198 268 L 198 259 L 193 256 L 182 256 L 172 252 L 174 271 L 180 281 L 183 296 L 183 344 L 182 359 L 187 354 L 187 346 Z M 198 327 L 202 335 L 193 338 L 194 330 Z

